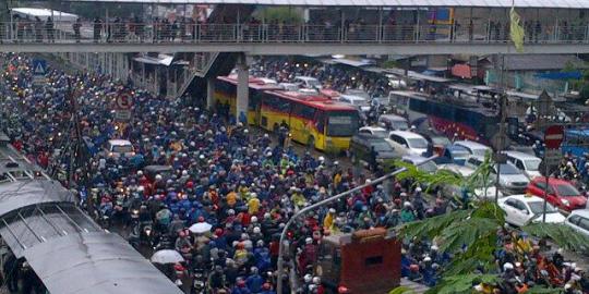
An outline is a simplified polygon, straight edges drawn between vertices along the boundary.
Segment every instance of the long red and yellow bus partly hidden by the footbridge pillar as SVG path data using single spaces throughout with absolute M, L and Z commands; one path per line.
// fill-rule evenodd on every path
M 236 97 L 236 78 L 218 77 L 217 102 L 229 103 L 235 113 Z M 360 115 L 353 106 L 323 96 L 285 91 L 254 78 L 250 79 L 248 122 L 271 132 L 287 124 L 293 140 L 318 150 L 340 151 L 349 148 Z

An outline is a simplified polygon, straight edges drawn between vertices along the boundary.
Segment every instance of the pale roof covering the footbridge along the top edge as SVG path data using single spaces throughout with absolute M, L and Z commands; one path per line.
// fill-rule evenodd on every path
M 299 7 L 466 7 L 510 8 L 512 0 L 70 0 L 72 2 L 127 2 L 155 4 L 259 4 Z M 516 8 L 589 9 L 587 0 L 515 0 Z

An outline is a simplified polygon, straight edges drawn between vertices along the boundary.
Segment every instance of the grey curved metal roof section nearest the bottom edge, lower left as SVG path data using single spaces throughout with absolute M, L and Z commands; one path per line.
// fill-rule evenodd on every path
M 97 232 L 38 244 L 24 256 L 55 294 L 182 294 L 121 236 Z

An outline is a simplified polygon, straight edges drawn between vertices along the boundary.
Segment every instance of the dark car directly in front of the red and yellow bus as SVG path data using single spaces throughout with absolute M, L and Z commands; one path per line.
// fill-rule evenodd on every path
M 385 170 L 388 170 L 395 159 L 400 159 L 401 155 L 395 151 L 390 145 L 381 137 L 368 134 L 357 134 L 350 140 L 350 152 L 352 162 L 360 161 L 366 166 L 371 166 L 374 160 L 372 158 L 372 149 L 376 155 L 376 163 L 381 164 Z

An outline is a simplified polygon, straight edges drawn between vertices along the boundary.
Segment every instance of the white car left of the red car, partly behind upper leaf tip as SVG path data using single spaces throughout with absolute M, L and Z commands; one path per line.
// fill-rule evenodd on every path
M 467 158 L 465 167 L 476 170 L 484 161 L 484 157 L 471 156 Z M 496 179 L 496 164 L 491 166 L 491 177 Z M 520 170 L 512 163 L 502 163 L 500 167 L 498 185 L 505 194 L 524 193 L 528 187 L 530 180 Z

